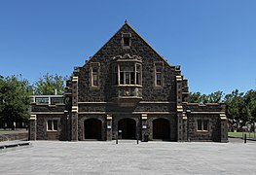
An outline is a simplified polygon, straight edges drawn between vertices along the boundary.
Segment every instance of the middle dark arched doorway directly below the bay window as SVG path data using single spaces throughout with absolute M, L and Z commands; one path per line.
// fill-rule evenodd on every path
M 119 137 L 122 139 L 136 139 L 136 122 L 132 119 L 123 119 L 118 122 Z

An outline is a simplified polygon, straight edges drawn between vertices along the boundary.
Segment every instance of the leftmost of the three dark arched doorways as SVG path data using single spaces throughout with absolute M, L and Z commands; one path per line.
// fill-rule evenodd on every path
M 101 121 L 97 119 L 86 120 L 85 123 L 85 139 L 101 140 Z

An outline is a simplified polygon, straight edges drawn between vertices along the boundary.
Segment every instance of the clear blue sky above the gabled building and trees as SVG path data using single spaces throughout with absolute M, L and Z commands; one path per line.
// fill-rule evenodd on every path
M 70 75 L 125 19 L 191 91 L 256 88 L 255 0 L 0 1 L 0 75 Z

